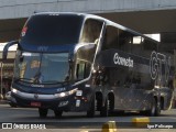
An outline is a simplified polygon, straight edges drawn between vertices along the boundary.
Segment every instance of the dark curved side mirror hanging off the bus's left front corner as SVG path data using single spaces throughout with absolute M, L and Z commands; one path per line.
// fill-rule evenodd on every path
M 11 41 L 8 42 L 8 44 L 3 47 L 3 52 L 2 52 L 2 61 L 7 59 L 8 56 L 8 50 L 10 46 L 14 45 L 14 44 L 19 44 L 19 41 Z

